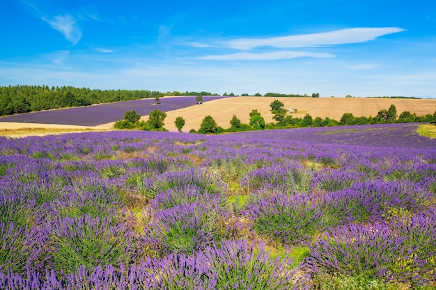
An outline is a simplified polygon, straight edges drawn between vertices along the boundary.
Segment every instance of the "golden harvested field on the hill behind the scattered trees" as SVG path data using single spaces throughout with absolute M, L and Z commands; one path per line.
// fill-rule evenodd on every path
M 190 106 L 176 111 L 166 112 L 166 129 L 175 130 L 174 120 L 182 116 L 186 120 L 184 131 L 199 129 L 205 115 L 211 115 L 218 126 L 230 127 L 230 120 L 236 115 L 244 123 L 249 122 L 249 113 L 257 109 L 265 122 L 274 122 L 270 104 L 279 99 L 285 108 L 296 108 L 293 117 L 303 117 L 309 113 L 313 118 L 332 118 L 340 120 L 343 113 L 352 113 L 355 117 L 377 115 L 391 104 L 396 106 L 398 115 L 410 111 L 416 115 L 433 114 L 436 111 L 436 99 L 373 99 L 373 98 L 295 98 L 295 97 L 232 97 L 217 99 L 201 106 Z

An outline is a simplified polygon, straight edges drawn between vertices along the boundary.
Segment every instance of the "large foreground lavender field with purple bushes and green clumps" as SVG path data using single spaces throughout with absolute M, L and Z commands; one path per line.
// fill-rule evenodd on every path
M 0 289 L 435 289 L 435 140 L 389 126 L 0 138 Z

